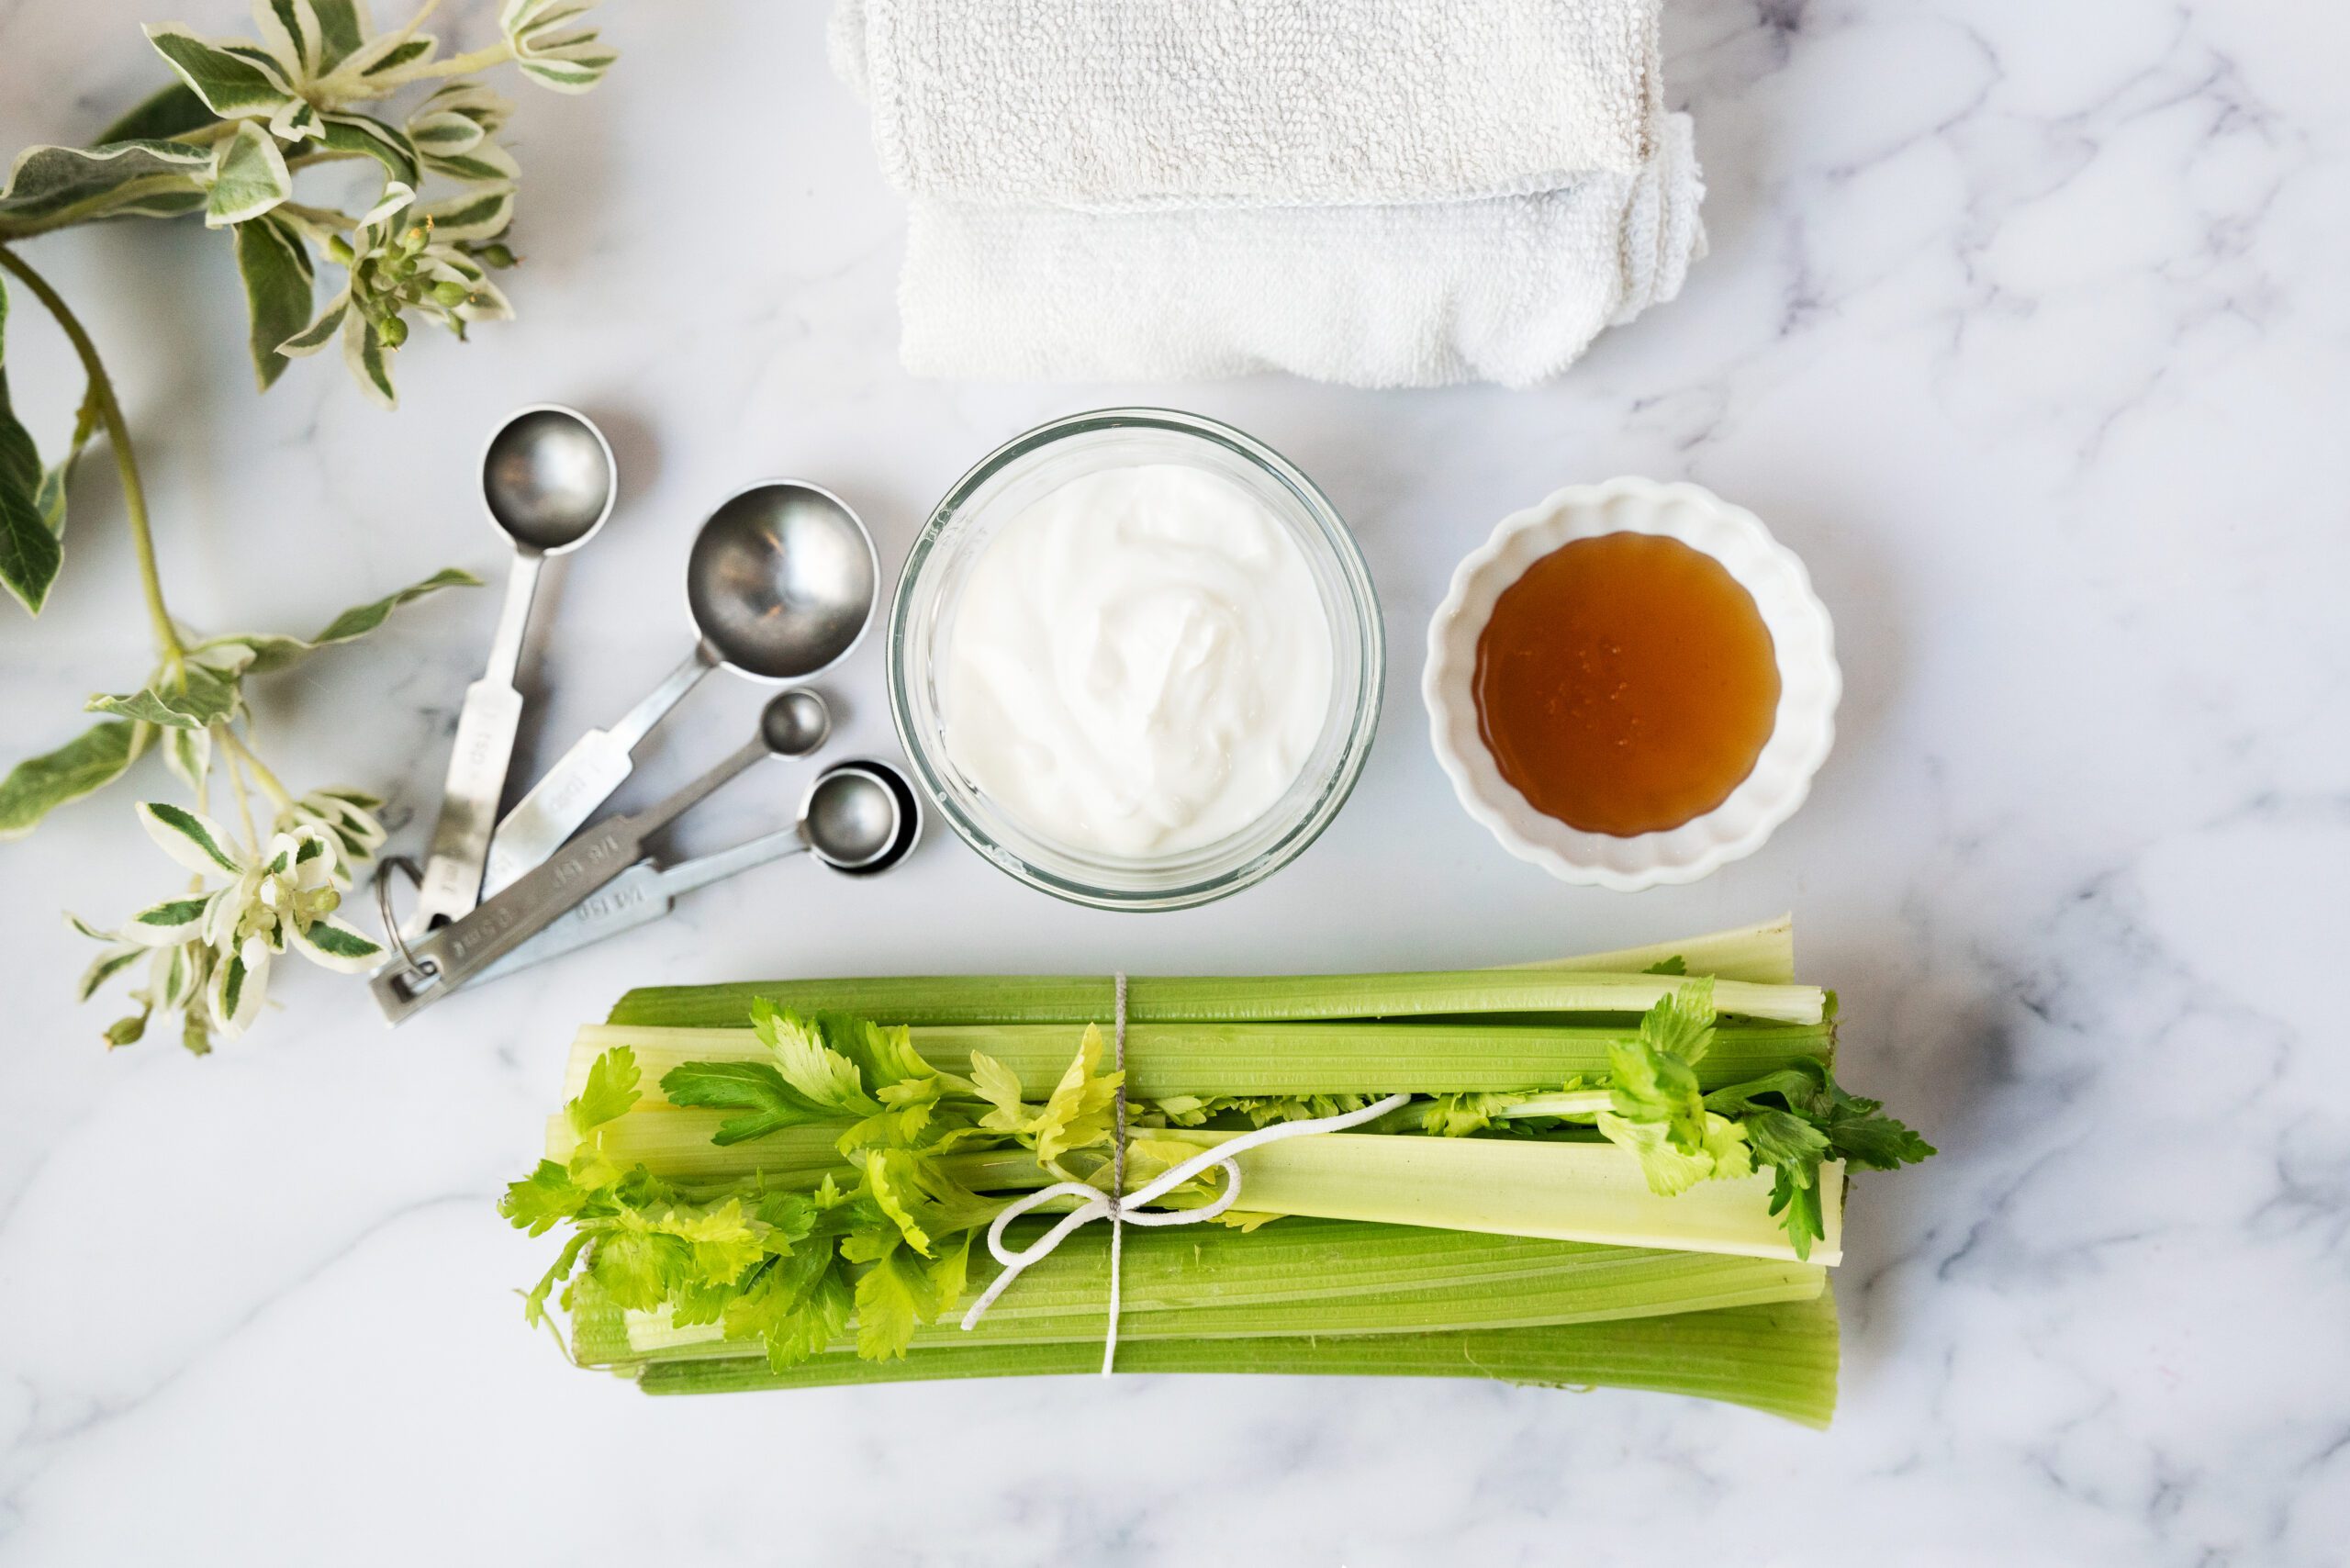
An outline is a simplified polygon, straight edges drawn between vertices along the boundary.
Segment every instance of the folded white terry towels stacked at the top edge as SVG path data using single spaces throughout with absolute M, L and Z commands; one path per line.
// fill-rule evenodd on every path
M 841 0 L 931 376 L 1565 369 L 1704 254 L 1659 0 Z

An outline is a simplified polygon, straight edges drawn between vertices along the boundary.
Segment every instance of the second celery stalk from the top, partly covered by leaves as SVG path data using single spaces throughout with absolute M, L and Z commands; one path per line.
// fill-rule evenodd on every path
M 1570 1077 L 1607 1072 L 1607 1044 L 1638 1037 L 1638 1023 L 1419 1025 L 1419 1023 L 1241 1023 L 1130 1025 L 1128 1088 L 1142 1100 L 1168 1095 L 1307 1095 L 1307 1093 L 1464 1093 L 1556 1088 Z M 764 1060 L 750 1030 L 677 1030 L 585 1025 L 571 1041 L 564 1098 L 580 1093 L 595 1058 L 613 1046 L 637 1053 L 646 1103 L 660 1077 L 682 1063 Z M 1053 1093 L 1076 1053 L 1076 1027 L 933 1025 L 914 1030 L 914 1048 L 940 1072 L 971 1072 L 985 1051 L 1020 1077 L 1032 1100 Z M 1697 1065 L 1706 1088 L 1744 1084 L 1798 1060 L 1828 1060 L 1835 1025 L 1723 1023 L 1713 1051 Z

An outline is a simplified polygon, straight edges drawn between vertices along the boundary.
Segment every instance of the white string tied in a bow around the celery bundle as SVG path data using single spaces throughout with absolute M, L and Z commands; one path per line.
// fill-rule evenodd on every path
M 1337 1117 L 1314 1117 L 1309 1121 L 1276 1121 L 1274 1126 L 1260 1126 L 1253 1133 L 1241 1133 L 1227 1143 L 1201 1150 L 1191 1159 L 1182 1161 L 1173 1171 L 1144 1182 L 1140 1190 L 1126 1190 L 1126 976 L 1119 976 L 1116 987 L 1119 1027 L 1116 1027 L 1116 1060 L 1119 1060 L 1119 1091 L 1112 1103 L 1114 1128 L 1109 1147 L 1109 1192 L 1090 1182 L 1053 1182 L 1039 1192 L 1029 1192 L 1003 1206 L 1003 1211 L 987 1227 L 987 1251 L 994 1253 L 1003 1272 L 996 1274 L 994 1284 L 980 1293 L 980 1300 L 971 1302 L 971 1312 L 964 1314 L 964 1328 L 978 1328 L 987 1309 L 996 1305 L 996 1298 L 1010 1288 L 1015 1279 L 1032 1265 L 1043 1262 L 1053 1248 L 1058 1248 L 1072 1232 L 1093 1225 L 1095 1220 L 1109 1220 L 1109 1326 L 1102 1335 L 1102 1375 L 1112 1373 L 1119 1359 L 1119 1265 L 1126 1253 L 1126 1227 L 1128 1225 L 1206 1225 L 1215 1220 L 1227 1208 L 1241 1199 L 1241 1166 L 1238 1157 L 1248 1150 L 1262 1147 L 1267 1143 L 1281 1143 L 1283 1138 L 1311 1138 L 1316 1133 L 1342 1133 L 1349 1126 L 1363 1126 L 1365 1121 L 1377 1121 L 1398 1105 L 1410 1103 L 1412 1095 L 1386 1095 L 1363 1110 L 1351 1110 Z M 1213 1204 L 1201 1208 L 1144 1208 L 1144 1204 L 1156 1204 L 1175 1187 L 1194 1180 L 1203 1171 L 1215 1166 L 1224 1168 L 1224 1190 L 1215 1194 Z M 1032 1208 L 1041 1208 L 1055 1199 L 1076 1199 L 1076 1208 L 1065 1213 L 1053 1229 L 1036 1237 L 1022 1251 L 1003 1246 L 1006 1227 Z

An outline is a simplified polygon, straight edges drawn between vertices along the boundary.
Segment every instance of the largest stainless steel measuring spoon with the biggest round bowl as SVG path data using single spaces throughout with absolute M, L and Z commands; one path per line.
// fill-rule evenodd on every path
M 872 621 L 881 564 L 848 503 L 818 484 L 768 480 L 726 498 L 693 536 L 686 609 L 693 656 L 611 729 L 590 729 L 524 795 L 489 844 L 484 893 L 510 886 L 578 832 L 620 788 L 637 745 L 717 668 L 794 682 L 848 656 Z

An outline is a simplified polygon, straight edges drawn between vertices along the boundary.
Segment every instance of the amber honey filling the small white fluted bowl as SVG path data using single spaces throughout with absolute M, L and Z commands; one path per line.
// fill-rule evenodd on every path
M 1666 832 L 1753 773 L 1779 656 L 1730 569 L 1657 534 L 1551 550 L 1476 644 L 1478 733 L 1528 804 L 1582 832 Z

